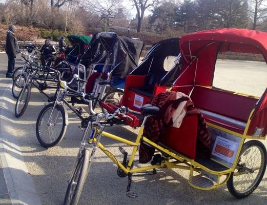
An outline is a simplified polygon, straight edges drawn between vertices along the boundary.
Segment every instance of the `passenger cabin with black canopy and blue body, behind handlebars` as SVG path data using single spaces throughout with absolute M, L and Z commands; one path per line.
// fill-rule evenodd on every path
M 141 39 L 120 36 L 114 32 L 94 35 L 90 48 L 83 57 L 86 59 L 90 55 L 91 59 L 86 92 L 94 93 L 98 99 L 116 93 L 122 95 L 125 78 L 137 67 L 143 45 Z M 101 85 L 99 81 L 102 81 Z

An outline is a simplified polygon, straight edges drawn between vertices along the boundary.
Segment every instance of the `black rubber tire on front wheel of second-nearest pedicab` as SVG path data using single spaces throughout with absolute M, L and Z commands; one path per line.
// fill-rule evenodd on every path
M 60 114 L 61 114 L 61 117 L 62 117 L 62 127 L 61 127 L 61 129 L 59 128 L 59 130 L 60 130 L 60 132 L 59 132 L 59 134 L 56 136 L 56 137 L 54 137 L 54 140 L 52 141 L 51 140 L 51 142 L 46 142 L 45 140 L 44 140 L 44 136 L 42 136 L 43 134 L 42 134 L 42 130 L 40 129 L 40 125 L 41 125 L 41 123 L 43 122 L 42 120 L 43 120 L 43 117 L 44 117 L 44 115 L 47 113 L 47 112 L 49 112 L 49 110 L 50 109 L 53 109 L 53 107 L 54 107 L 54 104 L 48 104 L 47 106 L 45 106 L 41 111 L 40 111 L 40 113 L 39 113 L 39 115 L 38 115 L 38 118 L 37 118 L 37 121 L 36 121 L 36 126 L 35 126 L 35 132 L 36 132 L 36 137 L 37 137 L 37 140 L 39 141 L 39 143 L 40 143 L 40 145 L 42 145 L 43 147 L 45 147 L 45 148 L 51 148 L 51 147 L 54 147 L 54 146 L 56 146 L 57 144 L 59 144 L 59 142 L 64 138 L 64 136 L 65 136 L 65 133 L 66 133 L 66 130 L 67 130 L 67 124 L 66 124 L 66 113 L 65 113 L 65 109 L 64 109 L 64 107 L 63 107 L 63 105 L 60 105 L 60 104 L 57 104 L 56 106 L 55 106 L 55 109 L 58 111 L 58 112 L 60 112 Z M 50 116 L 50 114 L 48 114 L 48 116 Z M 57 120 L 57 119 L 56 119 Z M 46 122 L 45 122 L 46 123 Z M 47 125 L 47 124 L 46 124 Z M 59 125 L 59 124 L 58 124 Z M 52 132 L 52 130 L 51 131 L 49 131 L 49 126 L 50 125 L 47 125 L 48 126 L 48 134 L 49 135 L 52 135 L 50 132 Z M 53 127 L 55 127 L 55 125 L 53 125 L 53 126 L 51 126 L 52 128 Z M 50 139 L 52 139 L 52 137 L 50 136 Z

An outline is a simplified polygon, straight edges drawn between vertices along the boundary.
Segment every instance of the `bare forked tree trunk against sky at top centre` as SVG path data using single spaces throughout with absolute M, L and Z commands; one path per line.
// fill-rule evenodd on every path
M 137 12 L 137 20 L 138 20 L 137 32 L 141 32 L 142 21 L 145 15 L 145 11 L 148 8 L 154 6 L 156 3 L 159 3 L 159 0 L 130 0 L 130 1 L 134 3 L 134 7 Z

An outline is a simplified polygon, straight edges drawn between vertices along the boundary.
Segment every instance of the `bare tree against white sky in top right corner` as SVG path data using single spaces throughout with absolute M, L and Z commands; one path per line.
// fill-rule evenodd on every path
M 267 6 L 265 0 L 250 0 L 250 16 L 253 19 L 253 30 L 256 30 L 258 23 L 267 17 Z

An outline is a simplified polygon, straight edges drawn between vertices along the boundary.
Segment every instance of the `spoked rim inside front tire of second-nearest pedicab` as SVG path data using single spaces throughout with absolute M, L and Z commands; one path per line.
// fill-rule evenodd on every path
M 39 137 L 45 144 L 53 144 L 57 141 L 64 127 L 63 113 L 57 107 L 55 107 L 53 113 L 52 110 L 53 107 L 48 107 L 40 117 L 38 124 Z M 51 113 L 52 116 L 49 122 Z

